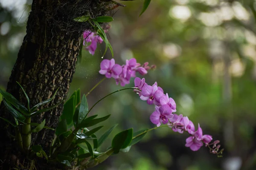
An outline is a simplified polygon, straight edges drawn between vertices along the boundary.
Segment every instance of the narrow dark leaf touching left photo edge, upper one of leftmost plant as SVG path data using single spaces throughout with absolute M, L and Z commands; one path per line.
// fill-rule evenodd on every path
M 26 115 L 29 114 L 29 111 L 27 110 L 27 108 L 23 106 L 19 101 L 17 101 L 17 99 L 15 99 L 15 97 L 12 96 L 12 94 L 9 94 L 6 91 L 3 91 L 1 89 L 0 89 L 0 94 L 2 94 L 3 98 L 5 98 L 6 101 L 14 105 L 14 107 L 17 108 L 21 113 Z

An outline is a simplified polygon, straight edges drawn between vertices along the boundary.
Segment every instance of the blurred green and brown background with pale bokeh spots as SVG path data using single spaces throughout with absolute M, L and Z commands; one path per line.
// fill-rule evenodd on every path
M 119 153 L 95 170 L 255 170 L 256 169 L 256 1 L 152 0 L 138 17 L 143 1 L 124 2 L 113 12 L 108 38 L 116 63 L 135 57 L 157 65 L 145 75 L 175 99 L 177 113 L 189 116 L 203 133 L 221 140 L 223 158 L 202 147 L 185 147 L 186 134 L 168 127 L 148 133 L 128 153 Z M 0 0 L 0 88 L 6 88 L 26 32 L 31 0 Z M 105 45 L 94 56 L 83 51 L 70 93 L 87 93 L 103 76 L 98 73 Z M 105 58 L 110 59 L 108 51 Z M 138 75 L 139 76 L 139 75 Z M 141 76 L 140 76 L 141 77 Z M 130 85 L 133 87 L 133 79 Z M 102 82 L 88 97 L 92 106 L 121 89 L 114 79 Z M 92 113 L 112 114 L 105 129 L 154 127 L 154 111 L 132 91 L 109 96 Z M 99 131 L 98 136 L 104 130 Z M 111 137 L 100 149 L 111 145 Z

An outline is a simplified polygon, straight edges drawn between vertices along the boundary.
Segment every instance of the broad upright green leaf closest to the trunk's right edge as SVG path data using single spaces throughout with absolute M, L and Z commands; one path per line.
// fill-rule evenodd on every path
M 75 107 L 75 96 L 71 96 L 64 104 L 63 113 L 61 114 L 61 120 L 66 119 L 67 125 L 70 125 L 73 122 Z

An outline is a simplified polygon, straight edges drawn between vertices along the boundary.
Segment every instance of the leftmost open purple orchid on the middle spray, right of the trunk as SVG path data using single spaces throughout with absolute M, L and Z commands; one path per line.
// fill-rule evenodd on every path
M 121 65 L 115 64 L 114 59 L 103 59 L 100 63 L 100 74 L 105 75 L 107 78 L 118 78 L 119 74 L 122 73 L 122 67 Z

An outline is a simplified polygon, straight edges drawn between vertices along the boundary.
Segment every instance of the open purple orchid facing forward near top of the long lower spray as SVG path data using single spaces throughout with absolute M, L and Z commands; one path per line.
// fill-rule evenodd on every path
M 157 85 L 144 85 L 140 99 L 147 100 L 148 105 L 152 105 L 154 103 L 155 105 L 160 106 L 159 100 L 160 97 L 163 96 L 163 91 L 161 91 L 161 89 L 162 88 L 157 87 Z

